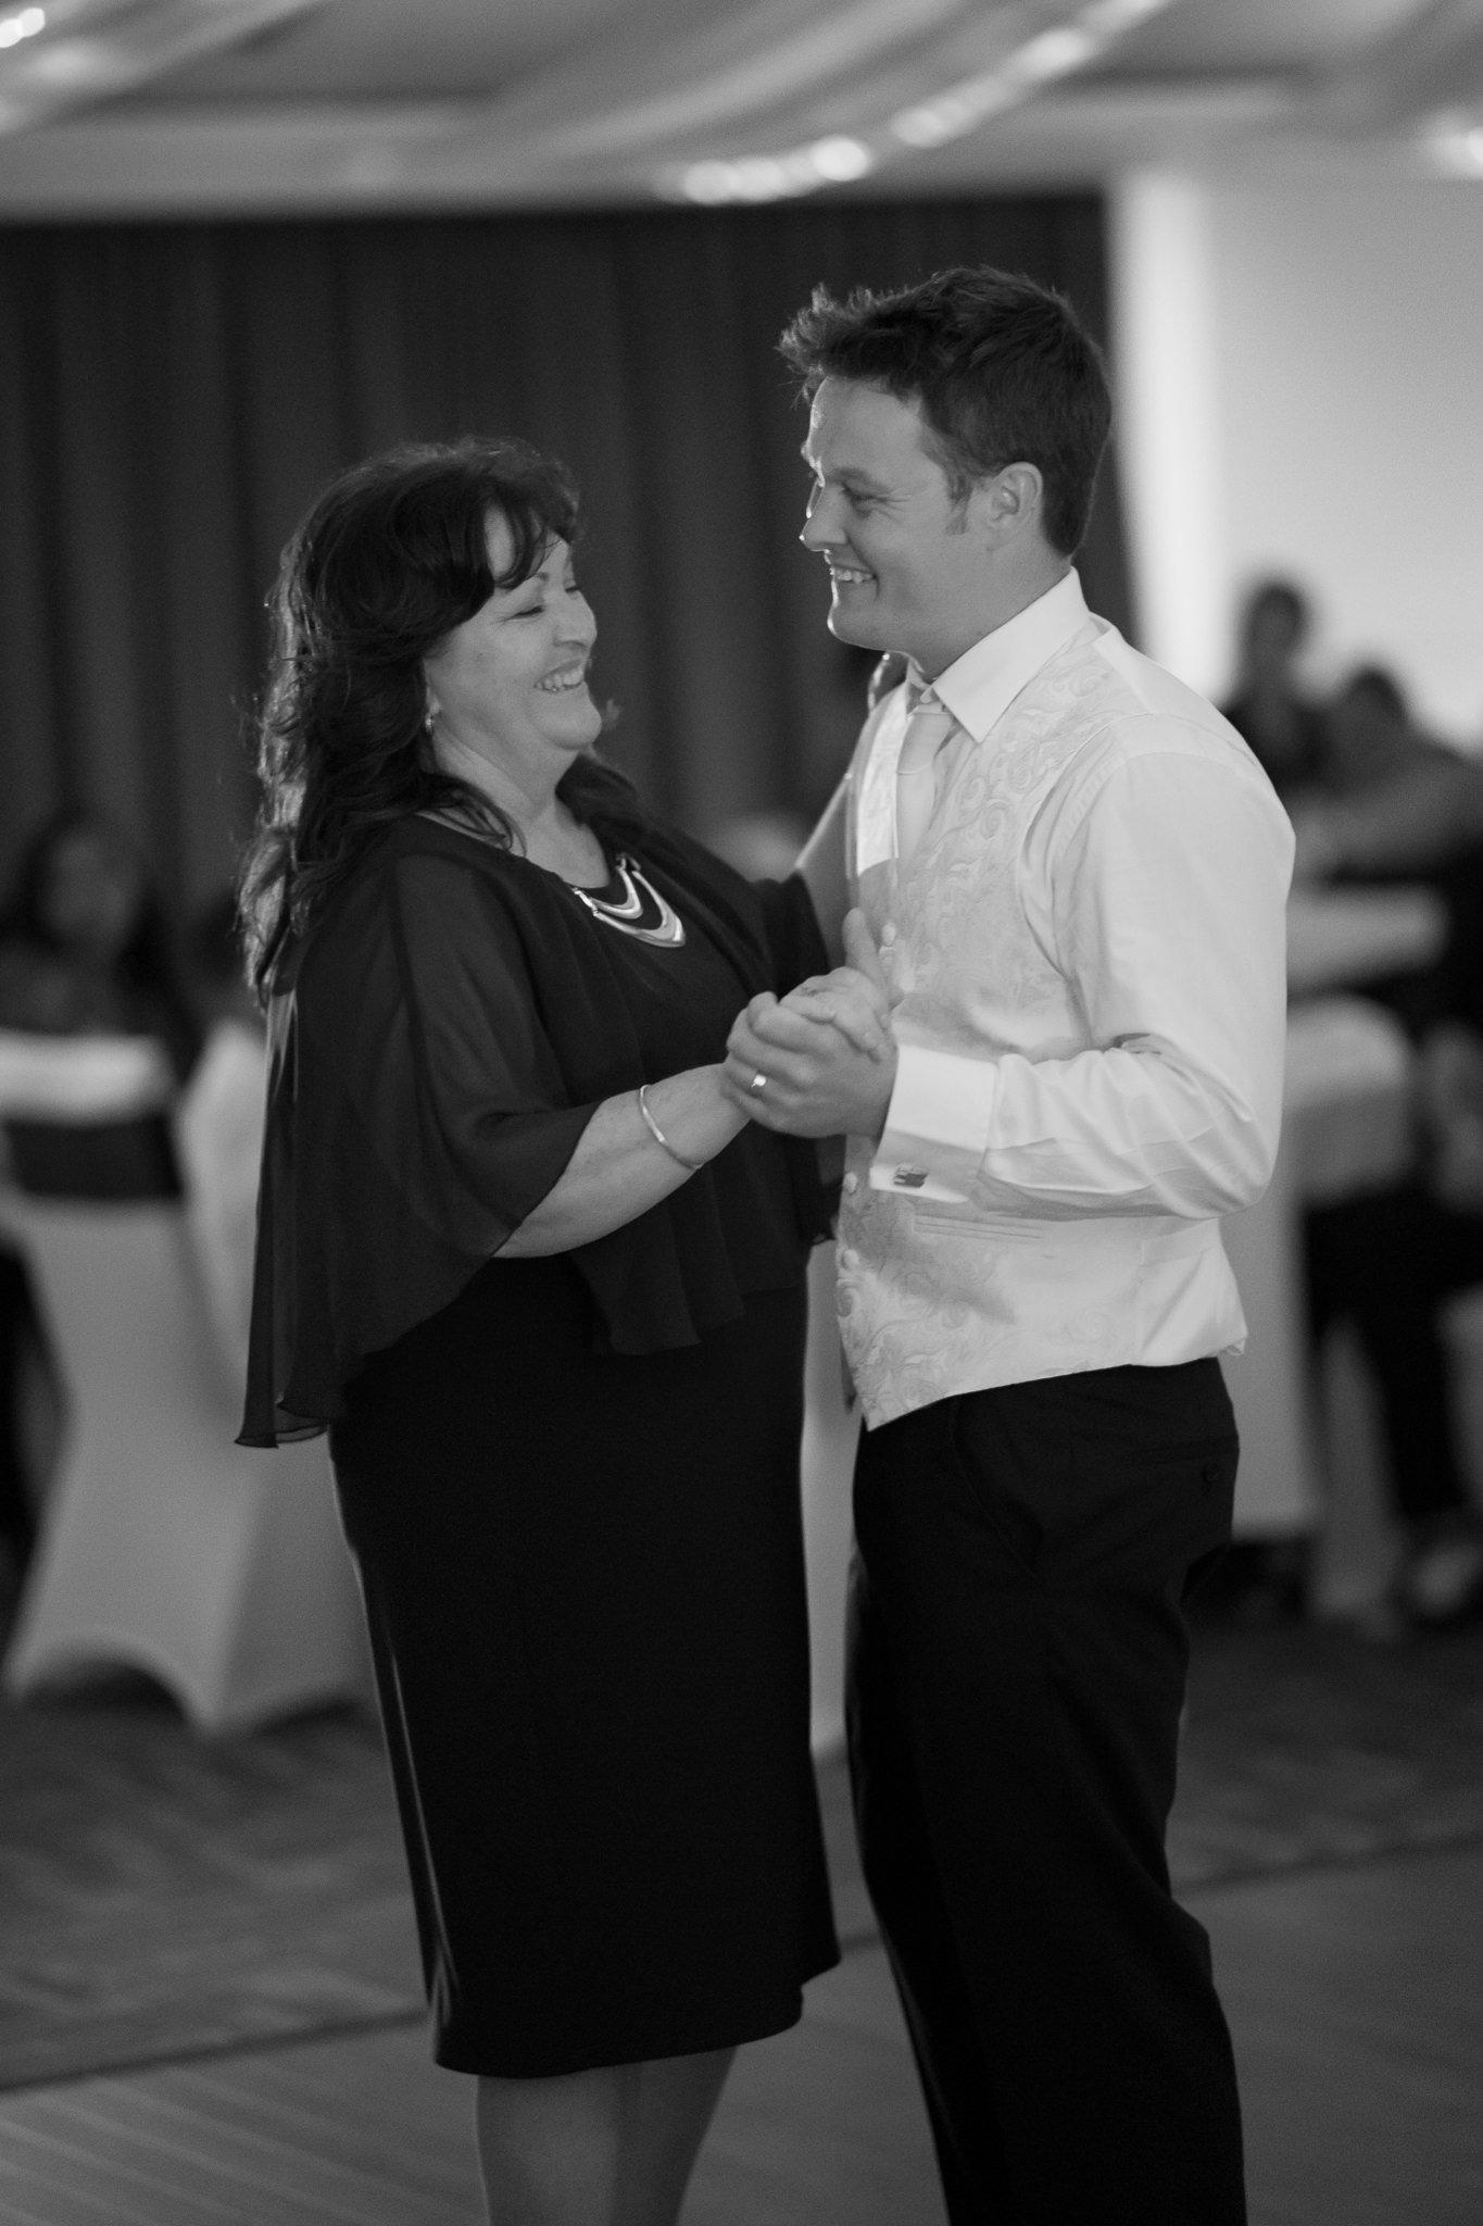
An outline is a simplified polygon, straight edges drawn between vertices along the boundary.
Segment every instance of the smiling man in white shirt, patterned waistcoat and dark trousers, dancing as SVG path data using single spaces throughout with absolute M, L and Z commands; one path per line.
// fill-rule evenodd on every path
M 849 1135 L 852 1767 L 954 2226 L 1238 2226 L 1230 2039 L 1163 1852 L 1181 1596 L 1230 1536 L 1218 1215 L 1276 1151 L 1292 835 L 1089 617 L 1069 307 L 945 272 L 794 321 L 832 630 L 905 652 L 805 870 L 852 959 L 727 1080 Z M 880 1024 L 889 1011 L 889 1028 Z

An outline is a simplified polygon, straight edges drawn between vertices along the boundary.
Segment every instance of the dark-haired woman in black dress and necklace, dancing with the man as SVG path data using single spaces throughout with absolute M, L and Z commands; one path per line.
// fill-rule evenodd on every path
M 591 755 L 574 492 L 349 472 L 285 554 L 245 1442 L 329 1425 L 438 2061 L 491 2217 L 665 2226 L 836 1961 L 798 1534 L 809 1146 L 718 1082 L 820 966 Z

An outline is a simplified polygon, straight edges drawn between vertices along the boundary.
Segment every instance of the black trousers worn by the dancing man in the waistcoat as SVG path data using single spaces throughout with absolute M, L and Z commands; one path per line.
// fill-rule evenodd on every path
M 865 1881 L 954 2226 L 1243 2226 L 1203 1928 L 1170 1892 L 1187 1634 L 1230 1538 L 1214 1360 L 945 1398 L 856 1465 Z

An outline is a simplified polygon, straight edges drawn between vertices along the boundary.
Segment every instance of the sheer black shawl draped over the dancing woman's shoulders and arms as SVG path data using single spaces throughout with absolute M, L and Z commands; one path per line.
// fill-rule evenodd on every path
M 720 953 L 729 1011 L 665 999 L 667 953 L 596 924 L 540 866 L 429 819 L 398 824 L 285 955 L 245 1445 L 340 1416 L 367 1356 L 458 1298 L 547 1195 L 605 1097 L 718 1060 L 747 997 L 827 966 L 800 881 L 749 884 L 663 828 L 636 855 Z M 647 1353 L 794 1282 L 825 1227 L 814 1146 L 747 1129 L 563 1258 L 594 1347 Z M 520 1262 L 505 1271 L 518 1302 Z

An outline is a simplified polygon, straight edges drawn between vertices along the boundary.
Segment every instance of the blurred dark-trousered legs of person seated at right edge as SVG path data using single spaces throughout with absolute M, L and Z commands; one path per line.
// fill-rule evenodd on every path
M 1483 1035 L 1434 1028 L 1419 1060 L 1414 1182 L 1303 1218 L 1314 1342 L 1350 1320 L 1381 1396 L 1392 1514 L 1403 1529 L 1394 1605 L 1419 1627 L 1483 1612 L 1483 1518 L 1456 1458 L 1439 1313 L 1483 1284 Z

